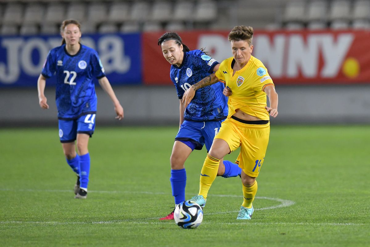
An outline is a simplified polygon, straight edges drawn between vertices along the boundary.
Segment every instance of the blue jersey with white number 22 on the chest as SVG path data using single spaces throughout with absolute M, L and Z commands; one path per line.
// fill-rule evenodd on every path
M 55 100 L 58 119 L 77 119 L 96 113 L 97 96 L 93 78 L 105 77 L 98 53 L 81 44 L 75 55 L 68 54 L 65 44 L 50 50 L 41 74 L 57 76 Z

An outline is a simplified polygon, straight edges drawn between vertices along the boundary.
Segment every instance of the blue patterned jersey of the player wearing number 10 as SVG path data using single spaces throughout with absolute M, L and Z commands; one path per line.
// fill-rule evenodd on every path
M 215 59 L 201 50 L 185 52 L 180 67 L 171 66 L 170 77 L 175 84 L 177 96 L 182 99 L 184 92 L 203 78 L 213 73 L 213 68 L 219 64 Z M 227 97 L 222 94 L 224 84 L 218 82 L 203 87 L 195 92 L 194 98 L 186 107 L 184 120 L 188 121 L 218 121 L 228 115 Z

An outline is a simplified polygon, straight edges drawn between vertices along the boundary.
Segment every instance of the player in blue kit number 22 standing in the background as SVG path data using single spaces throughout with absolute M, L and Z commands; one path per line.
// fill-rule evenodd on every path
M 97 78 L 100 86 L 112 99 L 116 119 L 123 118 L 123 108 L 105 77 L 98 53 L 80 44 L 80 23 L 76 20 L 63 21 L 61 36 L 62 45 L 50 50 L 38 77 L 38 100 L 42 109 L 49 108 L 44 95 L 45 84 L 46 79 L 55 73 L 60 142 L 68 165 L 77 173 L 75 198 L 86 198 L 90 171 L 87 146 L 94 133 L 97 110 L 97 96 L 92 79 Z

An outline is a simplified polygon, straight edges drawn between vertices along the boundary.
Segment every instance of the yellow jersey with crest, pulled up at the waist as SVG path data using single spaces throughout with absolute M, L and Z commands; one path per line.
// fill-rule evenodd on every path
M 233 57 L 225 59 L 215 73 L 219 81 L 226 83 L 232 91 L 229 96 L 228 106 L 230 118 L 240 109 L 246 114 L 258 117 L 261 120 L 269 120 L 265 87 L 274 85 L 263 63 L 253 56 L 250 56 L 248 63 L 238 71 L 232 69 L 235 60 Z

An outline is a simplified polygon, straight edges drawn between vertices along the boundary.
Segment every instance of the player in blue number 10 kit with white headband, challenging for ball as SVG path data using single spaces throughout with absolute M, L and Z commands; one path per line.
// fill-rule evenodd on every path
M 218 70 L 219 63 L 202 50 L 192 50 L 182 43 L 174 32 L 163 34 L 158 39 L 165 59 L 172 65 L 170 77 L 180 101 L 180 128 L 176 135 L 170 158 L 172 196 L 175 205 L 185 201 L 186 171 L 184 163 L 194 150 L 205 144 L 211 148 L 213 138 L 228 115 L 227 97 L 222 94 L 223 83 L 216 83 L 196 91 L 191 103 L 185 108 L 182 103 L 184 92 L 199 80 Z M 230 161 L 220 163 L 217 176 L 236 177 L 241 169 Z M 201 174 L 201 176 L 208 176 Z M 173 220 L 173 211 L 160 220 Z

